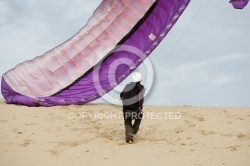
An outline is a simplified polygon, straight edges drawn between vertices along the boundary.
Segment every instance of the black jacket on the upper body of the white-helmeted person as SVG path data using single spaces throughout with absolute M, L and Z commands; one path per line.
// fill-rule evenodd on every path
M 123 111 L 140 111 L 143 107 L 144 86 L 139 82 L 131 82 L 125 86 L 120 94 Z

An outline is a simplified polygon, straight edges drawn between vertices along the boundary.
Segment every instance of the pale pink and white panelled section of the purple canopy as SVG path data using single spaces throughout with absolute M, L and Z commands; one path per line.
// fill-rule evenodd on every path
M 36 98 L 55 94 L 101 61 L 134 27 L 154 0 L 106 0 L 87 25 L 62 45 L 3 75 L 22 95 Z

